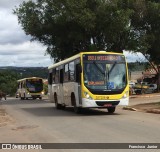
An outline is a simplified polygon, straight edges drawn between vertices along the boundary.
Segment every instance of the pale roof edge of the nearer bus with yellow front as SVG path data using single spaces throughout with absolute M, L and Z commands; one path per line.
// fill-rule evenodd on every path
M 69 57 L 69 58 L 67 58 L 67 59 L 65 59 L 65 60 L 62 60 L 62 61 L 60 61 L 60 62 L 58 62 L 58 63 L 55 63 L 55 64 L 50 65 L 50 66 L 48 67 L 48 69 L 52 69 L 52 68 L 55 68 L 55 67 L 57 67 L 57 66 L 63 65 L 63 64 L 65 64 L 65 63 L 68 63 L 68 62 L 70 62 L 70 61 L 73 61 L 73 60 L 77 59 L 78 57 L 80 57 L 80 56 L 83 55 L 83 54 L 117 54 L 117 55 L 123 55 L 123 53 L 106 52 L 106 51 L 81 52 L 81 53 L 76 54 L 76 55 L 74 55 L 74 56 L 72 56 L 72 57 Z

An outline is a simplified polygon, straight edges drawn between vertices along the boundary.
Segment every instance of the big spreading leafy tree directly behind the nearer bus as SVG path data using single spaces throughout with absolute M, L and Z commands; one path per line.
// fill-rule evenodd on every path
M 26 34 L 47 45 L 62 60 L 80 51 L 130 48 L 132 10 L 118 0 L 37 0 L 14 10 Z

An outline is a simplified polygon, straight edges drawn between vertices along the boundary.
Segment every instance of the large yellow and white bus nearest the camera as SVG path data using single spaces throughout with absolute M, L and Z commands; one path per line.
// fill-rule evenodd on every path
M 113 113 L 117 105 L 128 105 L 128 68 L 121 53 L 83 52 L 48 69 L 48 95 L 57 109 L 106 108 Z

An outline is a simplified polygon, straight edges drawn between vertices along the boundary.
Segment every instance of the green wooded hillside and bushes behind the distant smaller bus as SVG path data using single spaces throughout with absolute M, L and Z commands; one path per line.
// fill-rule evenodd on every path
M 10 96 L 15 96 L 17 91 L 17 80 L 25 77 L 41 77 L 47 79 L 47 68 L 22 68 L 8 67 L 0 69 L 0 91 Z M 44 91 L 47 93 L 47 85 L 44 84 Z

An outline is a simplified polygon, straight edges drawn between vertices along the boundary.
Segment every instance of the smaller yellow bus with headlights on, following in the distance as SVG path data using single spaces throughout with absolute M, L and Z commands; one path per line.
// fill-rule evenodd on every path
M 43 79 L 39 77 L 29 77 L 18 80 L 18 96 L 20 99 L 42 99 L 44 95 Z

